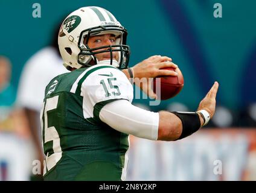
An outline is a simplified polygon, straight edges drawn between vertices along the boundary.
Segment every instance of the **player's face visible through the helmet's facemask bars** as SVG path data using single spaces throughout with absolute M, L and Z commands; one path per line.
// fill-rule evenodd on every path
M 88 40 L 88 46 L 89 48 L 97 48 L 100 46 L 109 46 L 109 45 L 115 45 L 115 36 L 114 34 L 104 34 L 100 36 L 92 36 Z M 103 49 L 97 49 L 96 51 L 101 51 L 108 48 Z M 112 52 L 113 60 L 118 61 L 118 52 Z M 97 59 L 100 60 L 110 60 L 110 52 L 103 52 L 100 54 L 95 54 Z

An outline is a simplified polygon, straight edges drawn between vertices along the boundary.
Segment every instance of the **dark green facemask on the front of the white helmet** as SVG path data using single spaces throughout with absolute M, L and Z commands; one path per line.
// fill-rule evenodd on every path
M 89 48 L 88 40 L 92 36 L 100 36 L 101 34 L 114 34 L 115 45 L 100 46 L 97 48 Z M 78 40 L 78 54 L 77 62 L 83 66 L 92 66 L 99 63 L 97 55 L 99 53 L 109 52 L 109 64 L 120 69 L 126 69 L 129 63 L 130 48 L 126 45 L 127 31 L 119 25 L 103 25 L 99 27 L 89 28 L 80 33 Z M 118 61 L 115 62 L 112 55 L 113 52 L 118 52 Z

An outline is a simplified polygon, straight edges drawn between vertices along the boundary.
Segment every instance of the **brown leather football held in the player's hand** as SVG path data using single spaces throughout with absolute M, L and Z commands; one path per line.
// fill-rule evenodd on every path
M 159 76 L 153 79 L 153 91 L 158 100 L 167 100 L 178 95 L 184 86 L 184 78 L 179 68 L 163 68 L 178 73 L 177 76 Z

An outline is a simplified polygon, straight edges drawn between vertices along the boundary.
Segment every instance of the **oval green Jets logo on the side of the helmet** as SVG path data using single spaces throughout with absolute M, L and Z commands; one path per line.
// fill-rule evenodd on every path
M 62 24 L 59 36 L 63 37 L 65 36 L 65 33 L 63 33 L 63 28 L 70 33 L 73 31 L 81 22 L 81 17 L 79 16 L 70 16 L 68 17 Z

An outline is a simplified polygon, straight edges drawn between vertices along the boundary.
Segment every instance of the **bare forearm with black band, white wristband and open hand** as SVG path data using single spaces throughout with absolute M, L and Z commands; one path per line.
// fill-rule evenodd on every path
M 158 140 L 182 139 L 207 124 L 215 113 L 218 88 L 219 83 L 215 82 L 205 98 L 200 101 L 197 112 L 194 114 L 159 112 Z

